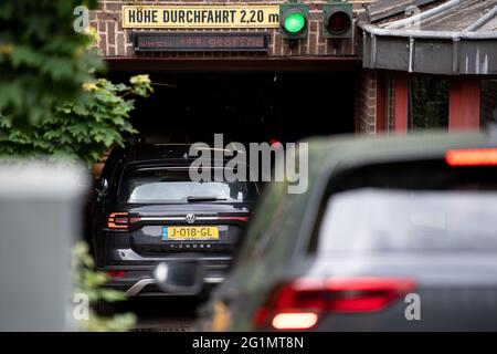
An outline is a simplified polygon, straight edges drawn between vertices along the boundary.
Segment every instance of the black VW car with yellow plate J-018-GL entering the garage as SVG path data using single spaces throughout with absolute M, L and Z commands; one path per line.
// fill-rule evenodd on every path
M 136 145 L 110 153 L 92 220 L 93 252 L 97 269 L 113 277 L 109 287 L 131 296 L 163 294 L 152 269 L 177 258 L 202 260 L 207 288 L 224 279 L 257 185 L 192 181 L 189 167 L 197 157 L 189 148 Z M 214 166 L 203 168 L 213 173 Z

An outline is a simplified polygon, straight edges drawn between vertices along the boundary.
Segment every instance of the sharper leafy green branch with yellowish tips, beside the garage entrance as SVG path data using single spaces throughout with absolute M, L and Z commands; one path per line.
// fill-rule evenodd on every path
M 83 100 L 60 104 L 32 127 L 0 116 L 0 155 L 64 157 L 89 166 L 114 144 L 123 145 L 123 134 L 135 133 L 128 121 L 135 102 L 127 96 L 152 92 L 148 75 L 133 76 L 130 85 L 99 79 L 84 83 L 83 90 Z

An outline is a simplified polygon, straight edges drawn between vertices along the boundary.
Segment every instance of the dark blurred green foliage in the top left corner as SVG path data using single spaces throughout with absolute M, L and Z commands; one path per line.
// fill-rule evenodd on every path
M 74 8 L 97 0 L 0 1 L 0 112 L 9 124 L 50 117 L 61 101 L 76 100 L 102 60 L 73 29 Z

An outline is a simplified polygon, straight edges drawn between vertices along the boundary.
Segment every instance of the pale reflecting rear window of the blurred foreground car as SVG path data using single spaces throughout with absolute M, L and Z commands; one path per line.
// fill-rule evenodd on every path
M 497 251 L 495 167 L 369 166 L 330 186 L 319 251 Z

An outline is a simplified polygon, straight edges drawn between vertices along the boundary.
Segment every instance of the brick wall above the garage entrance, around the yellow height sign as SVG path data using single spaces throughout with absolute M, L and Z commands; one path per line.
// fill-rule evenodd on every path
M 123 29 L 120 19 L 120 9 L 124 4 L 209 4 L 209 3 L 279 3 L 284 1 L 267 1 L 267 0 L 183 0 L 183 1 L 152 1 L 152 0 L 136 0 L 136 1 L 119 1 L 119 0 L 101 0 L 99 10 L 92 11 L 91 24 L 97 29 L 99 34 L 99 46 L 104 56 L 254 56 L 254 55 L 269 55 L 269 56 L 346 56 L 356 55 L 355 40 L 343 41 L 326 41 L 321 35 L 321 3 L 327 1 L 304 1 L 310 3 L 310 27 L 309 37 L 307 40 L 299 41 L 299 45 L 295 48 L 279 39 L 277 29 L 268 30 L 271 35 L 269 50 L 267 54 L 260 53 L 140 53 L 135 54 L 130 42 L 131 31 L 137 29 Z M 368 1 L 349 1 L 353 3 L 355 12 L 363 11 L 363 4 L 374 2 Z M 144 30 L 147 31 L 147 30 Z M 168 31 L 168 30 L 161 30 Z M 173 31 L 173 30 L 171 30 Z M 192 30 L 192 31 L 209 31 L 209 30 Z M 212 30 L 220 31 L 220 30 Z M 221 30 L 223 31 L 223 30 Z M 228 31 L 248 31 L 248 30 L 228 30 Z M 250 31 L 267 31 L 267 30 L 250 30 Z

